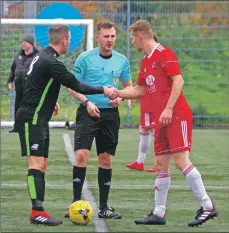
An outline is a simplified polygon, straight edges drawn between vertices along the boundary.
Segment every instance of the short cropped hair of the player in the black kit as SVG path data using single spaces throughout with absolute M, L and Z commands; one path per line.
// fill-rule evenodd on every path
M 68 38 L 69 28 L 66 25 L 54 25 L 49 29 L 50 44 L 60 44 L 63 38 Z

